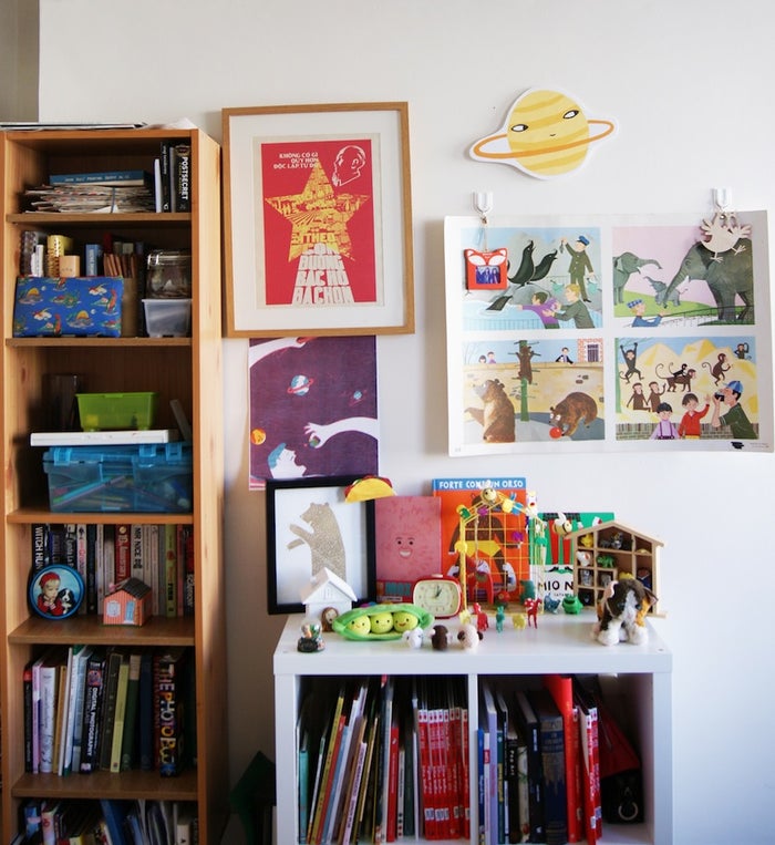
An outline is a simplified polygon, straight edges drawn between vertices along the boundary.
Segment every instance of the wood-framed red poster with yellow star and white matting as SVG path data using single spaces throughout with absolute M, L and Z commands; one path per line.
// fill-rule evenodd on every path
M 413 332 L 407 103 L 221 118 L 226 336 Z

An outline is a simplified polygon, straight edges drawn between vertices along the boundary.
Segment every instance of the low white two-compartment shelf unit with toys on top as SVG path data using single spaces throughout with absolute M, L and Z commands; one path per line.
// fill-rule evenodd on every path
M 591 614 L 568 616 L 544 614 L 538 628 L 514 630 L 493 628 L 476 651 L 457 642 L 445 651 L 420 649 L 397 641 L 347 640 L 337 633 L 323 635 L 324 650 L 303 653 L 297 648 L 303 617 L 291 616 L 275 650 L 275 714 L 277 761 L 277 842 L 299 842 L 297 718 L 303 692 L 310 684 L 329 678 L 365 676 L 424 676 L 432 682 L 444 676 L 461 678 L 467 690 L 471 776 L 471 845 L 477 836 L 476 728 L 478 691 L 484 678 L 506 683 L 534 686 L 544 673 L 598 674 L 612 681 L 617 695 L 626 702 L 631 729 L 637 738 L 643 782 L 643 823 L 603 823 L 607 845 L 670 845 L 672 843 L 672 753 L 671 672 L 672 656 L 650 626 L 643 646 L 607 648 L 591 639 Z M 455 620 L 442 620 L 455 632 Z M 453 637 L 454 639 L 454 637 Z M 410 837 L 410 842 L 425 842 Z M 442 845 L 452 845 L 448 841 Z M 468 839 L 455 839 L 468 842 Z

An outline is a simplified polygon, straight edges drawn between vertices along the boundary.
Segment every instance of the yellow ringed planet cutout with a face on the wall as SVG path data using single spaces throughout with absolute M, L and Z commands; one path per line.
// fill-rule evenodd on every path
M 474 144 L 471 156 L 510 164 L 529 176 L 549 179 L 580 167 L 590 144 L 614 130 L 612 121 L 589 120 L 568 94 L 530 89 L 514 103 L 498 132 Z

